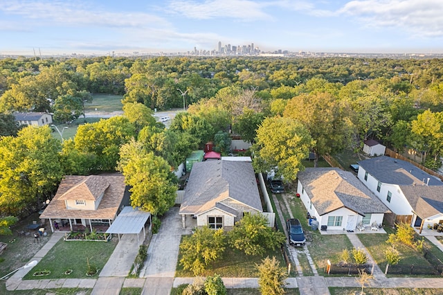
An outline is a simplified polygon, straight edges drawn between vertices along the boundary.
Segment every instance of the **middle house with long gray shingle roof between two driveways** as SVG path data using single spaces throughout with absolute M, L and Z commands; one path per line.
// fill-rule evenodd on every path
M 229 230 L 244 213 L 262 212 L 251 162 L 213 160 L 192 166 L 179 211 L 183 228 L 195 218 L 197 226 Z

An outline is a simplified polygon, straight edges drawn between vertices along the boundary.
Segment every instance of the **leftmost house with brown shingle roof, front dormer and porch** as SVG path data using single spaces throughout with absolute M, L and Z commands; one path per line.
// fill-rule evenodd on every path
M 123 175 L 66 175 L 40 219 L 48 219 L 52 231 L 54 222 L 66 231 L 92 231 L 93 226 L 110 226 L 128 199 Z

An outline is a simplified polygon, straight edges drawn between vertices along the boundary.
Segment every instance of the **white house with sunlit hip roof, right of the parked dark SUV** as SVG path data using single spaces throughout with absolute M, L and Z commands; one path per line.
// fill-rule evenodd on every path
M 311 216 L 327 230 L 354 231 L 360 222 L 381 224 L 388 208 L 352 172 L 306 168 L 298 172 L 297 193 Z

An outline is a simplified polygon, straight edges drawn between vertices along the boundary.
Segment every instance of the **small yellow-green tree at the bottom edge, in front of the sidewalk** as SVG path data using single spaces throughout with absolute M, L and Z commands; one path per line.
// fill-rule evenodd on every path
M 264 258 L 262 263 L 256 266 L 260 293 L 266 295 L 283 295 L 287 271 L 284 267 L 280 267 L 275 256 L 273 256 L 273 258 Z

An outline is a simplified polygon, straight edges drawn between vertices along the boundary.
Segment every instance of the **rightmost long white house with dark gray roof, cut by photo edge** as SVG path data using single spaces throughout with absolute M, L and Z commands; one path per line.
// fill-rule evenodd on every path
M 443 222 L 443 182 L 413 164 L 386 156 L 359 161 L 359 179 L 411 226 Z

